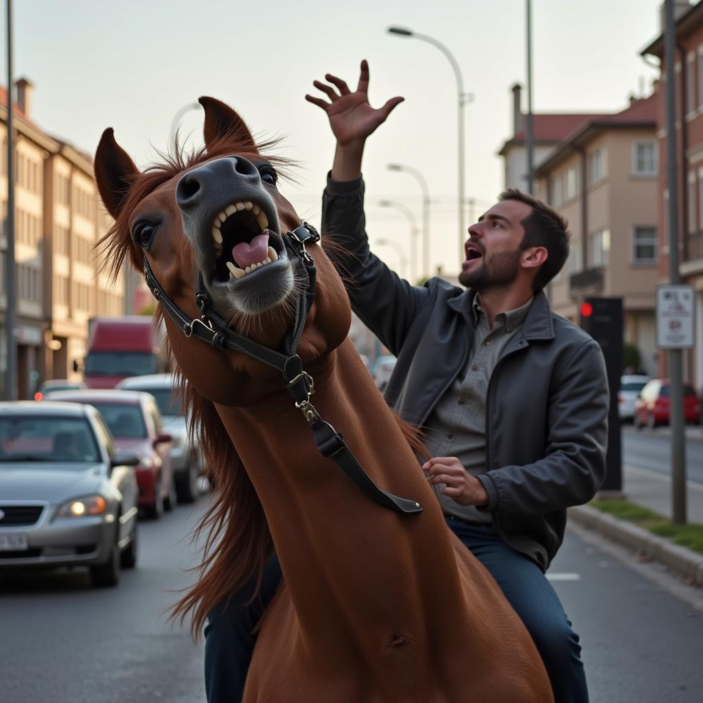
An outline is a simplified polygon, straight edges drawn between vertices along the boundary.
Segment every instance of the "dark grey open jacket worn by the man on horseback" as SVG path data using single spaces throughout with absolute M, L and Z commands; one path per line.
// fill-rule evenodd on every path
M 389 405 L 421 428 L 468 362 L 475 293 L 440 278 L 413 286 L 371 254 L 362 179 L 328 179 L 323 236 L 347 250 L 335 259 L 352 278 L 354 312 L 398 358 Z M 491 375 L 480 479 L 498 532 L 542 569 L 564 538 L 566 508 L 591 500 L 605 477 L 609 398 L 598 344 L 538 292 Z

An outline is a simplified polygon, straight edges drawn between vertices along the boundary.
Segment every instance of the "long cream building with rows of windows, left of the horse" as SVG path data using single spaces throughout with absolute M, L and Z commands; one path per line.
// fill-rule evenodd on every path
M 15 83 L 15 278 L 20 399 L 41 380 L 72 378 L 85 355 L 93 316 L 138 312 L 126 297 L 130 280 L 112 282 L 100 270 L 93 245 L 110 226 L 98 200 L 91 157 L 47 134 L 32 120 L 27 79 Z M 6 380 L 7 93 L 0 86 L 0 389 Z M 134 280 L 133 280 L 134 279 Z M 143 307 L 143 300 L 140 307 Z

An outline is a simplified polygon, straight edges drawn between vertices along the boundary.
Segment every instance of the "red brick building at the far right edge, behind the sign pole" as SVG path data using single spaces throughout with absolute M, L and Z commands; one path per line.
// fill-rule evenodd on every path
M 683 355 L 685 380 L 703 387 L 703 2 L 675 6 L 676 49 L 676 160 L 678 170 L 679 271 L 683 283 L 696 291 L 694 348 Z M 661 75 L 655 88 L 657 103 L 657 138 L 659 140 L 658 232 L 659 279 L 669 280 L 669 189 L 666 183 L 666 122 L 664 96 L 666 63 L 664 61 L 664 22 L 662 34 L 643 49 L 643 57 L 655 56 L 661 63 Z M 651 59 L 648 59 L 651 61 Z M 659 359 L 659 375 L 668 375 L 666 354 Z

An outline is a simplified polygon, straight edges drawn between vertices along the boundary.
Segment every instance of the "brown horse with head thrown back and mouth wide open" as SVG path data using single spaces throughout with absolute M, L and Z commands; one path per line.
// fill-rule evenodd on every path
M 309 258 L 286 235 L 300 234 L 301 221 L 276 187 L 280 160 L 264 155 L 271 144 L 257 146 L 224 103 L 200 103 L 205 148 L 187 160 L 176 149 L 141 173 L 108 129 L 95 162 L 115 217 L 106 260 L 115 271 L 125 258 L 144 266 L 169 313 L 172 354 L 217 486 L 201 578 L 176 612 L 193 614 L 198 631 L 275 546 L 283 583 L 262 621 L 245 701 L 552 701 L 527 630 L 446 528 L 417 442 L 349 341 L 349 299 L 333 263 L 321 246 L 309 245 Z M 204 320 L 198 290 L 210 306 Z M 294 404 L 281 373 L 227 348 L 233 330 L 268 349 L 290 347 L 308 305 L 297 354 L 314 378 L 317 412 L 375 484 L 422 512 L 364 495 L 318 451 L 300 412 L 310 406 Z M 298 391 L 300 378 L 288 377 Z

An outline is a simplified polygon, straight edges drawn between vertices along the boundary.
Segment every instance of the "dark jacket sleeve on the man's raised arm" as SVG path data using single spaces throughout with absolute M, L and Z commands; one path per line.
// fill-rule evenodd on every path
M 328 176 L 322 198 L 323 246 L 333 245 L 328 253 L 347 284 L 352 310 L 398 356 L 430 292 L 400 278 L 370 252 L 363 194 L 363 179 L 334 181 Z

